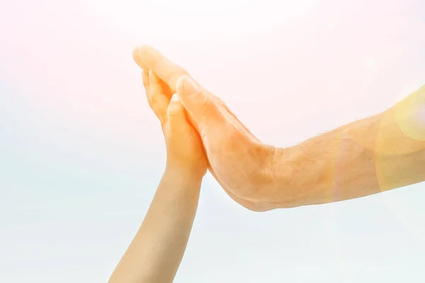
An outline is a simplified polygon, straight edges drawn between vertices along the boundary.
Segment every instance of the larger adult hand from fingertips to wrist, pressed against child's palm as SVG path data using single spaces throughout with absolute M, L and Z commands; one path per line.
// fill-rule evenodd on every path
M 179 93 L 193 127 L 203 141 L 210 173 L 227 194 L 254 211 L 273 204 L 273 146 L 261 143 L 217 96 L 194 81 L 188 72 L 149 45 L 137 47 L 133 59 L 144 71 L 153 71 L 166 86 L 167 96 Z M 156 103 L 155 108 L 166 108 Z M 164 109 L 165 111 L 165 109 Z

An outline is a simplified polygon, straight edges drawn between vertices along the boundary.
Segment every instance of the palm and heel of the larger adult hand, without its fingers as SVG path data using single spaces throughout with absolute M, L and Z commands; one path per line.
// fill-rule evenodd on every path
M 264 195 L 261 188 L 268 170 L 269 149 L 229 111 L 222 101 L 209 93 L 211 100 L 198 107 L 210 112 L 205 121 L 191 121 L 203 140 L 210 163 L 210 173 L 227 194 L 239 204 L 261 210 Z M 208 110 L 208 108 L 215 108 Z

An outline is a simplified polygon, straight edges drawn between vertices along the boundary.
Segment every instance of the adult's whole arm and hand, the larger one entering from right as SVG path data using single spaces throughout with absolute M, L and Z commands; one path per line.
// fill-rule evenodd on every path
M 323 204 L 425 180 L 425 86 L 384 112 L 296 146 L 261 143 L 217 96 L 149 45 L 133 59 L 179 93 L 209 170 L 254 211 Z

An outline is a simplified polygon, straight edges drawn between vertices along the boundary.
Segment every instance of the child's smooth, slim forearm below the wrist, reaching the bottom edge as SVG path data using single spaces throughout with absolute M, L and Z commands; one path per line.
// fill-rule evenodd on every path
M 203 176 L 167 170 L 109 283 L 172 282 L 198 207 Z

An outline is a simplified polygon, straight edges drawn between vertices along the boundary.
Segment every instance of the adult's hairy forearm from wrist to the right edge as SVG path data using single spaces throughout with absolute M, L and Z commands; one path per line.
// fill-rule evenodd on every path
M 425 180 L 425 87 L 273 158 L 271 207 L 348 200 Z

